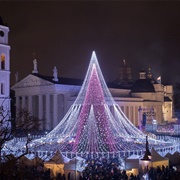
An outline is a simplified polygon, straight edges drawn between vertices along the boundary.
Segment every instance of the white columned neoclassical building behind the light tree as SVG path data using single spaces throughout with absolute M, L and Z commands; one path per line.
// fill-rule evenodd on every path
M 49 131 L 61 121 L 76 99 L 82 80 L 58 77 L 56 67 L 52 76 L 44 76 L 38 72 L 36 59 L 33 64 L 32 74 L 11 89 L 15 91 L 17 110 L 26 109 L 42 119 L 41 130 Z M 131 73 L 126 64 L 123 72 L 124 76 Z M 130 79 L 130 83 L 126 83 L 124 76 L 121 73 L 119 83 L 108 86 L 115 101 L 135 126 L 142 122 L 151 124 L 154 119 L 157 123 L 174 121 L 172 85 L 155 82 L 150 69 L 147 75 L 140 71 L 139 79 L 133 83 Z

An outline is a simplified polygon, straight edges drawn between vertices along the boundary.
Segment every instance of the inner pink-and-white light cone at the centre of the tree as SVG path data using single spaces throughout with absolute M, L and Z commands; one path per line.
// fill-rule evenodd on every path
M 85 142 L 90 152 L 104 151 L 112 152 L 114 137 L 109 128 L 109 117 L 106 113 L 104 93 L 97 74 L 95 63 L 93 63 L 89 84 L 85 99 L 79 115 L 79 125 L 73 151 L 79 151 L 81 144 Z

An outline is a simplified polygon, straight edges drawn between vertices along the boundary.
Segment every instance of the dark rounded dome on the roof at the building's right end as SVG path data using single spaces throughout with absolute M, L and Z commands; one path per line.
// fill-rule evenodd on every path
M 155 89 L 149 79 L 138 79 L 132 86 L 131 92 L 155 92 Z

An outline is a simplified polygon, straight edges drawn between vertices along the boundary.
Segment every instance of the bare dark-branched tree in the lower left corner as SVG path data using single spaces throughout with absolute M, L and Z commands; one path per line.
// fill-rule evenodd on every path
M 28 154 L 28 144 L 32 141 L 30 134 L 38 133 L 41 120 L 31 115 L 27 110 L 20 110 L 16 113 L 16 118 L 11 118 L 9 111 L 3 109 L 0 111 L 0 175 L 14 174 L 19 171 L 16 169 L 18 160 Z M 11 154 L 2 155 L 4 145 L 14 137 L 25 138 L 25 151 L 18 157 Z M 16 169 L 16 171 L 15 171 Z M 12 172 L 13 171 L 13 172 Z

